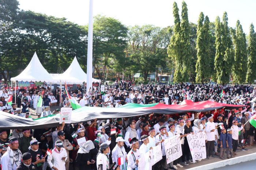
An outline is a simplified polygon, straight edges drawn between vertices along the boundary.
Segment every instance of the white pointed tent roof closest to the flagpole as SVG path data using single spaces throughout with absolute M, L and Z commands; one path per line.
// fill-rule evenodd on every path
M 71 83 L 71 84 L 82 84 L 87 80 L 87 74 L 84 73 L 80 67 L 76 57 L 73 59 L 68 69 L 60 74 L 59 76 L 53 77 L 56 81 Z M 92 82 L 100 82 L 100 80 L 93 78 Z

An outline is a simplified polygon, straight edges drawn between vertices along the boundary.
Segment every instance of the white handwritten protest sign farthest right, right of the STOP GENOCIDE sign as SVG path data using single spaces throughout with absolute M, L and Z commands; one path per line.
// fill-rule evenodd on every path
M 206 158 L 205 132 L 189 134 L 187 136 L 189 149 L 192 155 L 193 162 Z

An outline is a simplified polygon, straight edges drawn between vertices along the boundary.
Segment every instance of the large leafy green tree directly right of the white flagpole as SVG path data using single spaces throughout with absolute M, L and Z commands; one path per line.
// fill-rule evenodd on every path
M 112 67 L 112 59 L 123 61 L 127 32 L 128 28 L 114 18 L 100 15 L 94 17 L 93 66 L 100 79 L 104 78 L 106 68 Z

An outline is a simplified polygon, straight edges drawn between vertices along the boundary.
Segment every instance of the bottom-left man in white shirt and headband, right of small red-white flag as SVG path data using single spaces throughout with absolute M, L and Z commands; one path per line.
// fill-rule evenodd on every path
M 63 143 L 60 140 L 55 142 L 55 147 L 52 150 L 52 154 L 48 155 L 47 162 L 52 170 L 65 170 L 65 161 L 68 155 L 63 148 Z

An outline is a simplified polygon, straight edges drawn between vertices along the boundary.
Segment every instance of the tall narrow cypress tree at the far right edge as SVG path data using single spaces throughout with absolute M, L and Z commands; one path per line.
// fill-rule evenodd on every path
M 256 34 L 254 31 L 254 26 L 251 23 L 250 33 L 248 40 L 248 62 L 247 62 L 247 74 L 246 82 L 252 84 L 256 80 Z

